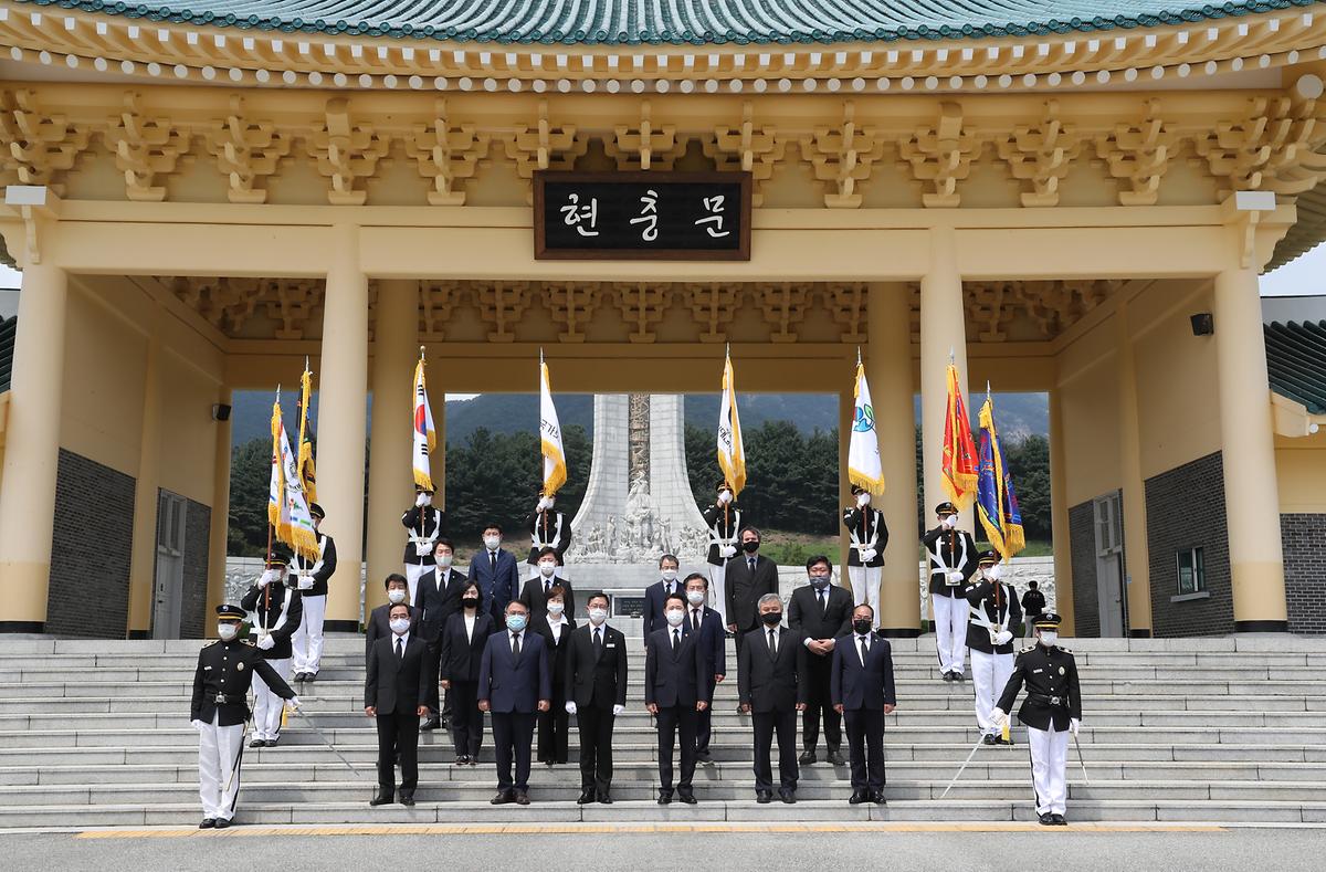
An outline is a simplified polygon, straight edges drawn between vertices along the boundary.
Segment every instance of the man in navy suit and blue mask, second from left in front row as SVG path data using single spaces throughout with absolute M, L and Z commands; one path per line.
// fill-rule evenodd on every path
M 529 610 L 507 603 L 507 631 L 493 633 L 479 664 L 479 710 L 493 718 L 497 795 L 492 804 L 529 804 L 529 758 L 537 712 L 552 708 L 553 675 L 544 637 L 526 629 Z M 512 757 L 516 777 L 512 778 Z

